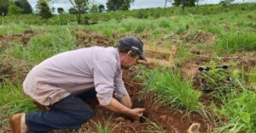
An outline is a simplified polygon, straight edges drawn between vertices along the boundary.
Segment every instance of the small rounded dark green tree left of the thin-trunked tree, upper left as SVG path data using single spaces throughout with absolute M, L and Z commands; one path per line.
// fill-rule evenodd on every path
M 39 11 L 39 15 L 42 18 L 49 19 L 50 17 L 52 17 L 51 10 L 46 0 L 39 0 L 37 4 L 37 9 Z

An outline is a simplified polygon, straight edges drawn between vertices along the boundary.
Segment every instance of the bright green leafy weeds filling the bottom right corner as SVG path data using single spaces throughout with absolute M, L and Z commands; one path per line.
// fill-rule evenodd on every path
M 219 114 L 228 118 L 227 124 L 219 127 L 216 132 L 245 132 L 256 130 L 256 94 L 254 91 L 243 91 L 240 94 L 230 95 L 224 101 Z

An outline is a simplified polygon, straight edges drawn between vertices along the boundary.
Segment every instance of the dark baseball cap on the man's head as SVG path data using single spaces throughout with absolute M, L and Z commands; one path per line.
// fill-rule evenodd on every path
M 143 42 L 135 36 L 125 36 L 121 38 L 117 47 L 127 47 L 132 52 L 137 53 L 140 56 L 140 59 L 147 61 L 143 54 Z

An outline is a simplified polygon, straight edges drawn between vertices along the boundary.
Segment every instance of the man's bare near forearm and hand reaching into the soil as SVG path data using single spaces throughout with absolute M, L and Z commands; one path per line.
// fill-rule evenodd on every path
M 117 101 L 113 97 L 110 103 L 105 107 L 120 114 L 126 114 L 126 115 L 137 116 L 137 117 L 141 116 L 143 114 L 143 110 L 145 110 L 145 108 L 133 108 L 133 109 L 127 108 L 125 105 L 119 103 L 119 101 Z

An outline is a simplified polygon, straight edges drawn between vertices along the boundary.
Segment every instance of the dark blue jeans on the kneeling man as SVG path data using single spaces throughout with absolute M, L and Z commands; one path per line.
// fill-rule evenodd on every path
M 44 133 L 57 129 L 79 129 L 84 122 L 94 116 L 93 110 L 84 101 L 96 97 L 95 89 L 80 95 L 71 94 L 49 106 L 48 112 L 26 114 L 28 130 Z

